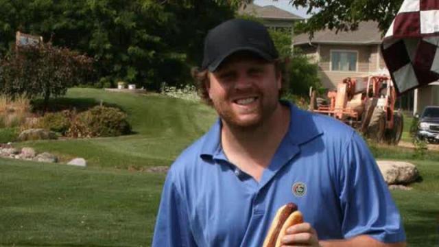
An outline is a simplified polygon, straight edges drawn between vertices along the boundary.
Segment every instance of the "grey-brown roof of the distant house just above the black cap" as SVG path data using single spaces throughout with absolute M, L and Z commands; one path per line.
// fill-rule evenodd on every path
M 300 17 L 296 14 L 292 14 L 280 8 L 277 8 L 274 5 L 266 5 L 259 6 L 254 3 L 249 3 L 245 7 L 239 8 L 239 14 L 250 14 L 254 16 L 258 16 L 262 19 L 275 19 L 275 20 L 302 20 L 303 17 Z

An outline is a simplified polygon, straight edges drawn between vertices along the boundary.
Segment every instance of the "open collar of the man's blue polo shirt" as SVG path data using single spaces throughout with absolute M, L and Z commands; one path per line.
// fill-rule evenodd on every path
M 300 148 L 298 148 L 299 145 L 307 143 L 308 141 L 318 137 L 320 134 L 322 134 L 322 131 L 318 129 L 315 124 L 312 124 L 312 114 L 307 113 L 304 110 L 300 110 L 297 106 L 290 102 L 282 101 L 281 104 L 289 107 L 291 119 L 289 121 L 289 130 L 284 137 L 280 148 L 284 147 L 285 145 L 283 144 L 285 141 L 287 141 L 290 145 L 295 146 L 291 151 L 296 150 L 294 154 L 291 153 L 291 155 L 287 156 L 295 156 L 296 153 L 300 151 Z M 204 137 L 200 152 L 201 158 L 209 157 L 226 159 L 221 147 L 221 128 L 221 119 L 218 118 Z M 288 152 L 287 150 L 285 151 Z M 278 152 L 283 152 L 283 150 L 278 150 Z

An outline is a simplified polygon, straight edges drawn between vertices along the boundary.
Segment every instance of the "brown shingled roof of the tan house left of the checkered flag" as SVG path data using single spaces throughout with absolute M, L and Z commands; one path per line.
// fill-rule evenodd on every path
M 294 45 L 304 44 L 348 44 L 348 45 L 372 45 L 381 43 L 381 31 L 375 21 L 361 22 L 355 31 L 338 32 L 335 30 L 322 30 L 314 33 L 312 40 L 309 34 L 299 34 L 294 37 Z

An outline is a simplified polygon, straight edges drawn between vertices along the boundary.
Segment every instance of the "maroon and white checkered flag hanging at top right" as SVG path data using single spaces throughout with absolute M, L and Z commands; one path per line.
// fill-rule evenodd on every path
M 404 0 L 381 53 L 399 94 L 439 80 L 439 0 Z

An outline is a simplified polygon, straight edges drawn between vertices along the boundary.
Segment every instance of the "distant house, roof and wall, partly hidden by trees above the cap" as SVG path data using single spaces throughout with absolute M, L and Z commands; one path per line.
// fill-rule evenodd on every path
M 287 29 L 293 31 L 293 24 L 302 21 L 304 18 L 292 14 L 274 5 L 259 6 L 249 3 L 238 10 L 238 14 L 256 16 L 263 20 L 266 27 L 275 29 Z

